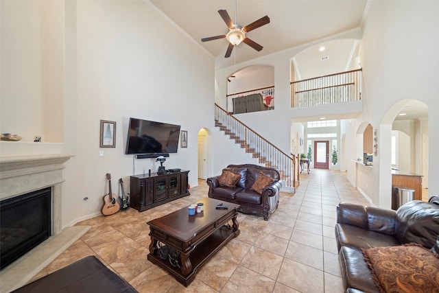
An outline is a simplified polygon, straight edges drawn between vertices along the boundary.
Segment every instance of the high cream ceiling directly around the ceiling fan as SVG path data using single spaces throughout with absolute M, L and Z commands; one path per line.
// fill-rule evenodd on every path
M 367 0 L 151 0 L 189 36 L 215 56 L 216 69 L 272 54 L 361 26 Z M 236 6 L 236 13 L 235 13 Z M 246 36 L 263 46 L 256 51 L 241 43 L 230 58 L 224 58 L 225 38 L 202 42 L 201 38 L 226 34 L 228 27 L 218 14 L 227 10 L 230 18 L 245 26 L 268 15 L 270 23 Z

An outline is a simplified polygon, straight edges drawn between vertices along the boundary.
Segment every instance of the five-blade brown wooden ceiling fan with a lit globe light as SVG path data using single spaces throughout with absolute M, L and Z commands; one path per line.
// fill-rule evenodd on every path
M 218 10 L 218 13 L 222 17 L 226 25 L 228 26 L 228 33 L 219 36 L 209 36 L 208 38 L 202 38 L 201 39 L 202 42 L 207 42 L 209 40 L 217 40 L 219 38 L 226 38 L 228 40 L 228 47 L 226 51 L 226 56 L 224 56 L 225 58 L 230 57 L 230 55 L 232 54 L 233 47 L 239 45 L 241 42 L 246 43 L 247 45 L 249 45 L 250 47 L 252 47 L 257 51 L 261 51 L 263 47 L 258 43 L 254 42 L 253 40 L 250 40 L 250 38 L 247 38 L 246 33 L 254 29 L 257 29 L 258 27 L 266 25 L 267 23 L 270 23 L 270 17 L 265 15 L 261 17 L 261 19 L 258 19 L 257 21 L 254 21 L 249 25 L 246 25 L 245 27 L 241 27 L 241 25 L 233 23 L 232 19 L 230 19 L 230 16 L 228 15 L 226 10 Z

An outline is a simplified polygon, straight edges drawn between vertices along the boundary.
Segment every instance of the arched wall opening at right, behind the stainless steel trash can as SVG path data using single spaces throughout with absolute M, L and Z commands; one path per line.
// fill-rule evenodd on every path
M 422 177 L 420 190 L 428 188 L 428 106 L 418 99 L 401 99 L 381 120 L 379 150 L 380 203 L 388 202 L 394 176 Z M 396 170 L 397 169 L 397 170 Z M 410 186 L 410 188 L 414 188 Z M 428 200 L 427 192 L 415 191 L 415 199 Z

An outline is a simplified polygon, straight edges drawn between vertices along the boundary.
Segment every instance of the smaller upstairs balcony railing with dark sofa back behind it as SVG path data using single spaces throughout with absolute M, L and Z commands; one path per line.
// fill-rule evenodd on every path
M 230 114 L 250 113 L 274 108 L 274 86 L 227 95 Z

